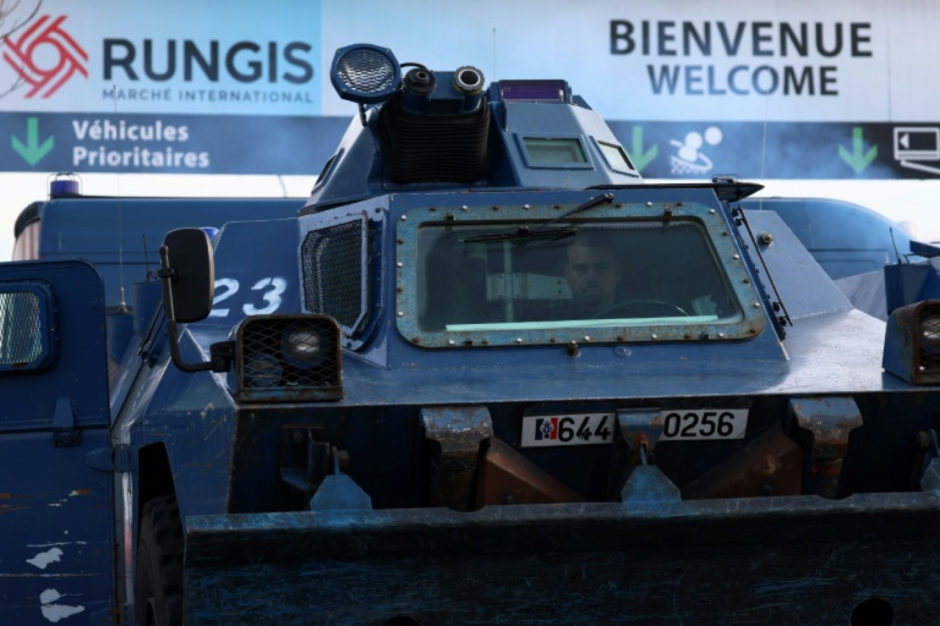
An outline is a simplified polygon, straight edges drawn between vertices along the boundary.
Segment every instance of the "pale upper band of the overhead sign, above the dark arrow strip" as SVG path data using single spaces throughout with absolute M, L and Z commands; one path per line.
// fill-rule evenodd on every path
M 24 0 L 6 25 L 33 6 Z M 391 48 L 401 62 L 431 69 L 474 65 L 489 80 L 565 78 L 607 119 L 933 122 L 940 116 L 935 105 L 940 72 L 933 67 L 940 58 L 935 32 L 940 2 L 935 0 L 45 0 L 41 15 L 66 16 L 61 28 L 88 54 L 88 76 L 72 76 L 49 98 L 27 99 L 27 89 L 20 88 L 0 99 L 0 110 L 352 115 L 354 107 L 334 94 L 329 65 L 337 48 L 369 42 Z M 611 53 L 612 44 L 626 51 L 630 43 L 622 37 L 612 42 L 612 23 L 621 36 L 632 29 L 630 53 Z M 804 26 L 807 52 L 801 54 L 783 30 L 800 33 Z M 642 37 L 644 29 L 649 38 Z M 710 50 L 690 38 L 690 29 L 699 38 L 710 34 Z M 838 31 L 839 52 L 826 55 L 836 49 Z M 132 42 L 137 80 L 119 67 L 105 79 L 109 38 Z M 167 50 L 175 42 L 177 71 L 170 79 L 145 75 L 148 40 L 151 65 L 158 72 L 167 67 Z M 198 66 L 186 79 L 185 41 L 203 54 L 217 42 L 221 68 L 216 80 L 207 80 Z M 257 63 L 263 78 L 246 83 L 227 72 L 226 53 L 241 41 L 260 50 L 238 53 L 234 65 L 250 73 Z M 291 53 L 311 65 L 308 82 L 292 84 L 284 78 L 285 73 L 305 73 L 303 63 L 292 63 L 286 55 L 291 42 L 312 47 Z M 271 45 L 277 64 L 273 74 Z M 127 51 L 112 47 L 112 52 Z M 46 46 L 35 58 L 48 68 L 56 57 L 54 47 Z M 657 94 L 654 83 L 663 80 L 664 72 L 676 83 L 671 92 L 661 87 Z M 0 85 L 11 84 L 15 76 L 0 60 Z M 812 96 L 806 83 L 799 90 L 792 84 L 807 76 L 814 83 Z M 119 94 L 123 90 L 124 97 L 104 97 L 111 88 Z M 148 93 L 141 99 L 137 93 L 130 98 L 131 89 L 168 90 L 170 96 Z M 204 93 L 184 99 L 184 90 Z M 830 95 L 821 95 L 823 90 Z M 218 92 L 240 92 L 245 98 L 220 99 Z

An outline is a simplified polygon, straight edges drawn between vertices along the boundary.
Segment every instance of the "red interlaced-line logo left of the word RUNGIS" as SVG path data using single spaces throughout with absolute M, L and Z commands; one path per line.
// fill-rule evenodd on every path
M 4 39 L 4 60 L 30 86 L 26 98 L 49 98 L 75 72 L 88 76 L 88 54 L 62 30 L 65 19 L 43 15 L 19 38 Z

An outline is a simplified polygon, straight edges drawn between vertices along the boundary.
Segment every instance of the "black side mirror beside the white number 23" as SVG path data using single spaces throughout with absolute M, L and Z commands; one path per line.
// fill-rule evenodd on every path
M 215 265 L 209 236 L 201 228 L 178 228 L 160 248 L 166 316 L 185 324 L 206 319 L 212 310 Z

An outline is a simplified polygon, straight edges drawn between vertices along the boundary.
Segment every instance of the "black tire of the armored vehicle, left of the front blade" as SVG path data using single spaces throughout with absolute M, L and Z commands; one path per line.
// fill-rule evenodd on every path
M 182 624 L 182 523 L 175 496 L 144 505 L 134 568 L 134 626 Z

